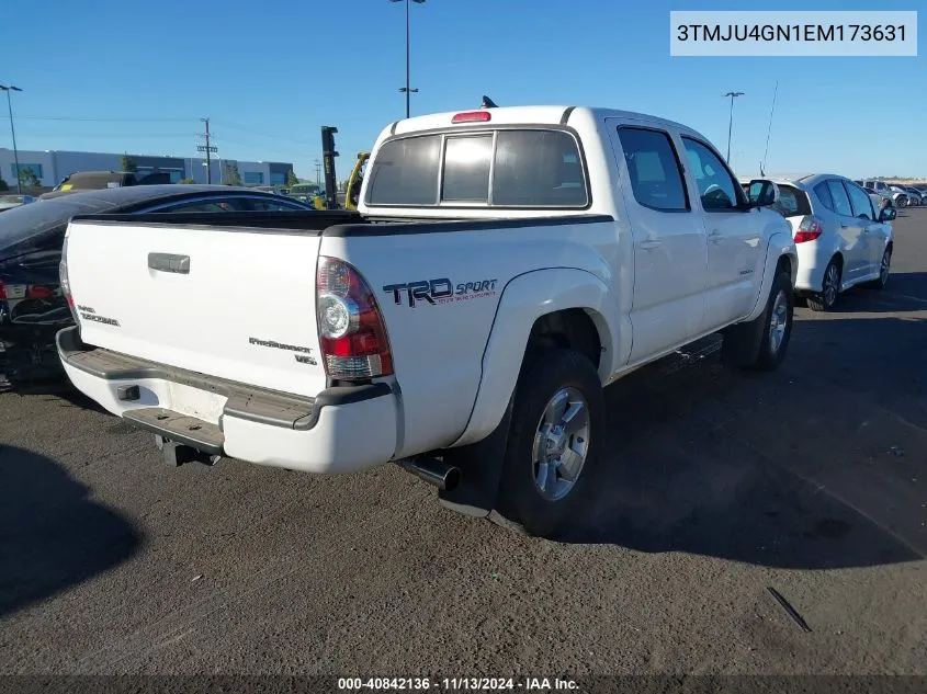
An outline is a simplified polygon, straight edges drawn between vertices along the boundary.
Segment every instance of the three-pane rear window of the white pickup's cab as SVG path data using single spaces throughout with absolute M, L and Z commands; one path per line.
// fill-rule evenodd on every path
M 565 130 L 499 129 L 387 140 L 371 162 L 370 206 L 585 208 L 576 138 Z

